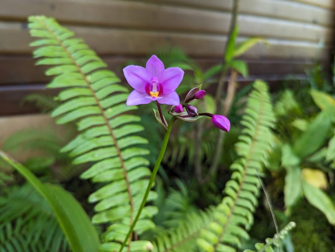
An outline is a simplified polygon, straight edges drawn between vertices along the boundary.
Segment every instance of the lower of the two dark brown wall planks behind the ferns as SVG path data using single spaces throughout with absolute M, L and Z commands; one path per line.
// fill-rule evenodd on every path
M 262 79 L 270 84 L 272 88 L 276 88 L 283 81 L 282 75 L 250 75 L 248 79 L 239 77 L 238 81 L 242 85 L 253 82 L 256 79 Z M 306 75 L 298 74 L 291 76 L 293 80 L 306 80 Z M 24 103 L 24 97 L 31 93 L 56 95 L 57 89 L 45 88 L 43 84 L 0 86 L 0 116 L 17 115 L 26 113 L 36 113 L 39 110 L 34 104 Z

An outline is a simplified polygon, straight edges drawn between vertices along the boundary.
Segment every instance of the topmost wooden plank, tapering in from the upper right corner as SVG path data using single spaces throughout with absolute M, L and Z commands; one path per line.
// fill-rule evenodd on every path
M 233 0 L 145 1 L 150 3 L 169 4 L 172 6 L 184 6 L 220 11 L 230 11 L 233 5 Z M 333 0 L 240 0 L 239 13 L 334 26 L 334 8 L 335 2 Z

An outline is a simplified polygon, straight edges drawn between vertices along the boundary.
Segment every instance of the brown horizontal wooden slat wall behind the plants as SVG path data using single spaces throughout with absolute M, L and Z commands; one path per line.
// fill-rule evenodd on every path
M 0 115 L 33 111 L 18 104 L 49 80 L 34 67 L 26 19 L 53 16 L 120 73 L 130 58 L 158 46 L 179 46 L 203 66 L 217 63 L 227 40 L 233 0 L 1 0 Z M 267 38 L 250 50 L 251 79 L 304 78 L 314 60 L 329 64 L 334 41 L 335 0 L 240 0 L 239 41 Z M 322 43 L 320 43 L 322 42 Z M 324 47 L 320 47 L 324 44 Z M 10 109 L 8 108 L 10 106 Z

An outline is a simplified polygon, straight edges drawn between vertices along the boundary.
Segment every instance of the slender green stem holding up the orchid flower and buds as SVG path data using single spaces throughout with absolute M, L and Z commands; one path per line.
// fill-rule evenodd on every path
M 127 237 L 126 237 L 126 239 L 123 241 L 123 243 L 121 245 L 121 248 L 120 248 L 119 252 L 121 252 L 122 249 L 126 246 L 126 242 L 128 241 L 130 235 L 132 234 L 132 232 L 134 230 L 134 227 L 136 225 L 136 222 L 138 221 L 138 219 L 139 219 L 139 217 L 141 215 L 141 212 L 142 212 L 142 210 L 144 208 L 144 205 L 145 205 L 146 200 L 148 198 L 149 192 L 151 190 L 153 181 L 155 180 L 155 177 L 156 177 L 159 165 L 162 162 L 162 159 L 163 159 L 163 156 L 164 156 L 164 153 L 165 153 L 165 150 L 166 150 L 167 142 L 169 142 L 169 137 L 170 137 L 170 133 L 171 133 L 171 130 L 172 130 L 172 125 L 176 121 L 176 119 L 177 119 L 177 117 L 175 117 L 175 116 L 172 117 L 171 121 L 169 122 L 169 125 L 167 125 L 167 130 L 166 130 L 165 135 L 164 135 L 163 143 L 162 143 L 162 146 L 160 147 L 158 158 L 157 158 L 155 166 L 153 167 L 153 170 L 152 170 L 152 173 L 151 173 L 151 177 L 150 177 L 150 180 L 149 180 L 149 184 L 148 184 L 148 187 L 147 187 L 147 189 L 145 191 L 142 203 L 140 205 L 140 208 L 138 209 L 138 212 L 137 212 L 137 215 L 136 215 L 136 217 L 135 217 L 135 219 L 133 221 L 133 224 L 131 225 L 131 227 L 129 229 Z

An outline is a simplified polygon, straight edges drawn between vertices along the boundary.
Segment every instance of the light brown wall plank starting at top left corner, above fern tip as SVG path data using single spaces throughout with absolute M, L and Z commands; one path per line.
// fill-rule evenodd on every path
M 204 11 L 141 2 L 111 0 L 2 1 L 4 2 L 0 5 L 2 6 L 0 8 L 0 19 L 3 16 L 3 18 L 25 20 L 28 15 L 44 13 L 65 23 L 206 34 L 227 34 L 230 21 L 229 12 Z M 275 1 L 267 1 L 264 6 L 267 6 L 267 9 L 272 12 L 277 11 L 277 9 L 281 10 L 282 6 L 277 6 L 273 2 Z M 284 7 L 284 12 L 286 13 L 286 10 L 290 9 L 291 14 L 296 16 L 298 8 L 293 8 L 293 12 L 291 10 L 294 5 L 296 4 L 291 4 L 287 8 Z M 263 5 L 258 4 L 257 6 L 258 8 L 248 3 L 247 14 L 238 16 L 240 35 L 313 42 L 323 39 L 326 43 L 333 41 L 334 30 L 329 27 L 270 18 L 272 16 L 271 12 L 263 13 L 267 14 L 267 17 L 252 15 L 253 9 L 264 9 Z M 262 6 L 262 8 L 259 8 L 259 6 Z M 299 10 L 299 13 L 303 12 Z M 309 13 L 303 14 L 303 16 L 307 15 Z M 332 20 L 332 18 L 329 18 L 329 20 Z

